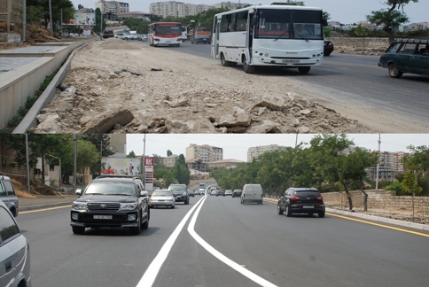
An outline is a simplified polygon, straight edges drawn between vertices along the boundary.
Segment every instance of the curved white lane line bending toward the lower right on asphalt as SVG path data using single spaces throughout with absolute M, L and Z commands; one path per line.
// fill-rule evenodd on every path
M 197 221 L 197 217 L 199 215 L 199 211 L 201 210 L 201 207 L 204 205 L 204 201 L 206 200 L 206 198 L 202 198 L 202 199 L 204 199 L 203 202 L 199 205 L 197 211 L 193 214 L 191 221 L 188 225 L 188 232 L 191 234 L 191 237 L 193 237 L 201 246 L 203 246 L 207 250 L 207 252 L 212 253 L 212 255 L 214 255 L 214 257 L 216 257 L 218 260 L 221 260 L 223 263 L 230 266 L 230 268 L 234 268 L 236 271 L 238 271 L 242 275 L 245 275 L 253 282 L 258 283 L 261 286 L 277 287 L 277 285 L 270 283 L 269 281 L 263 279 L 262 277 L 247 270 L 242 265 L 239 265 L 238 263 L 230 260 L 229 258 L 224 256 L 221 252 L 218 252 L 217 250 L 215 250 L 210 244 L 207 244 L 207 242 L 204 241 L 203 238 L 199 237 L 197 232 L 195 232 L 194 227 L 195 227 L 195 221 Z

